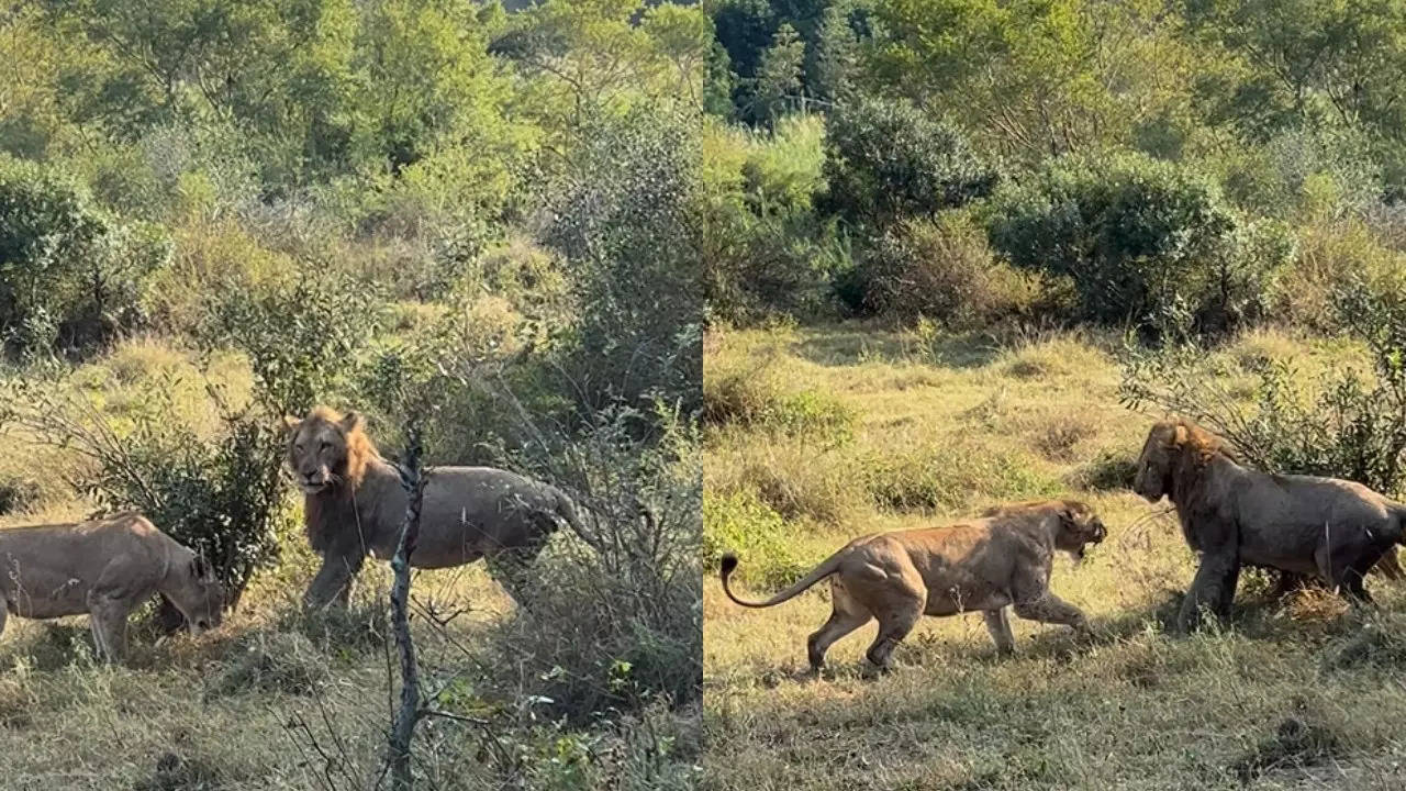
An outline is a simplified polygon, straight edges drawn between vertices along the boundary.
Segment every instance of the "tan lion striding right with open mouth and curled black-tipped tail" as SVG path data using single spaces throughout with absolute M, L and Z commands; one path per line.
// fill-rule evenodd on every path
M 772 607 L 830 577 L 834 611 L 806 643 L 817 671 L 830 646 L 870 618 L 879 618 L 879 636 L 865 656 L 880 670 L 889 669 L 894 646 L 922 615 L 979 609 L 1000 653 L 1015 650 L 1007 605 L 1021 618 L 1087 632 L 1084 614 L 1052 594 L 1049 580 L 1056 550 L 1080 560 L 1084 545 L 1104 539 L 1104 524 L 1088 505 L 1074 500 L 1021 502 L 983 517 L 945 528 L 858 538 L 794 586 L 759 602 L 733 595 L 727 578 L 737 569 L 737 557 L 727 555 L 723 590 L 742 607 Z

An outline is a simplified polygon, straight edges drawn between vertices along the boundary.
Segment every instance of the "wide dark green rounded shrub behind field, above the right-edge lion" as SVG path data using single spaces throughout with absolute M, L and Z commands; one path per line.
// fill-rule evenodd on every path
M 987 231 L 1017 266 L 1073 279 L 1084 317 L 1105 324 L 1149 327 L 1168 310 L 1208 331 L 1253 321 L 1288 253 L 1209 180 L 1142 155 L 1050 160 L 993 198 Z

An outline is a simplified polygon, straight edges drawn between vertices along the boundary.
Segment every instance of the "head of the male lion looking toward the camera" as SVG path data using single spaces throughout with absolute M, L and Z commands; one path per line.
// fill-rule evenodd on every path
M 361 483 L 371 441 L 361 429 L 361 415 L 339 415 L 318 407 L 304 419 L 284 418 L 288 432 L 288 469 L 305 494 L 319 494 L 340 484 Z

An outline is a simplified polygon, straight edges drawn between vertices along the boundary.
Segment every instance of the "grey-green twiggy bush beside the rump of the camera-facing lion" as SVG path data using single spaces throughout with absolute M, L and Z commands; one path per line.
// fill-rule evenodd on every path
M 558 533 L 538 557 L 534 573 L 550 584 L 529 588 L 527 612 L 505 621 L 489 650 L 515 688 L 572 721 L 683 705 L 702 685 L 697 438 L 659 414 L 662 441 L 644 445 L 631 438 L 641 419 L 617 410 L 576 436 L 538 428 L 541 445 L 509 455 L 569 493 L 583 529 Z

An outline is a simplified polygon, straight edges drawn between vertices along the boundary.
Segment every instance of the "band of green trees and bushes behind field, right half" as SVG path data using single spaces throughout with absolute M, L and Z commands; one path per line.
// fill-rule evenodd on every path
M 755 152 L 720 146 L 742 196 L 735 255 L 707 260 L 714 315 L 1149 329 L 1178 314 L 1223 334 L 1315 322 L 1334 287 L 1402 266 L 1400 4 L 728 0 L 713 15 L 710 96 L 728 99 L 713 134 L 749 124 Z

